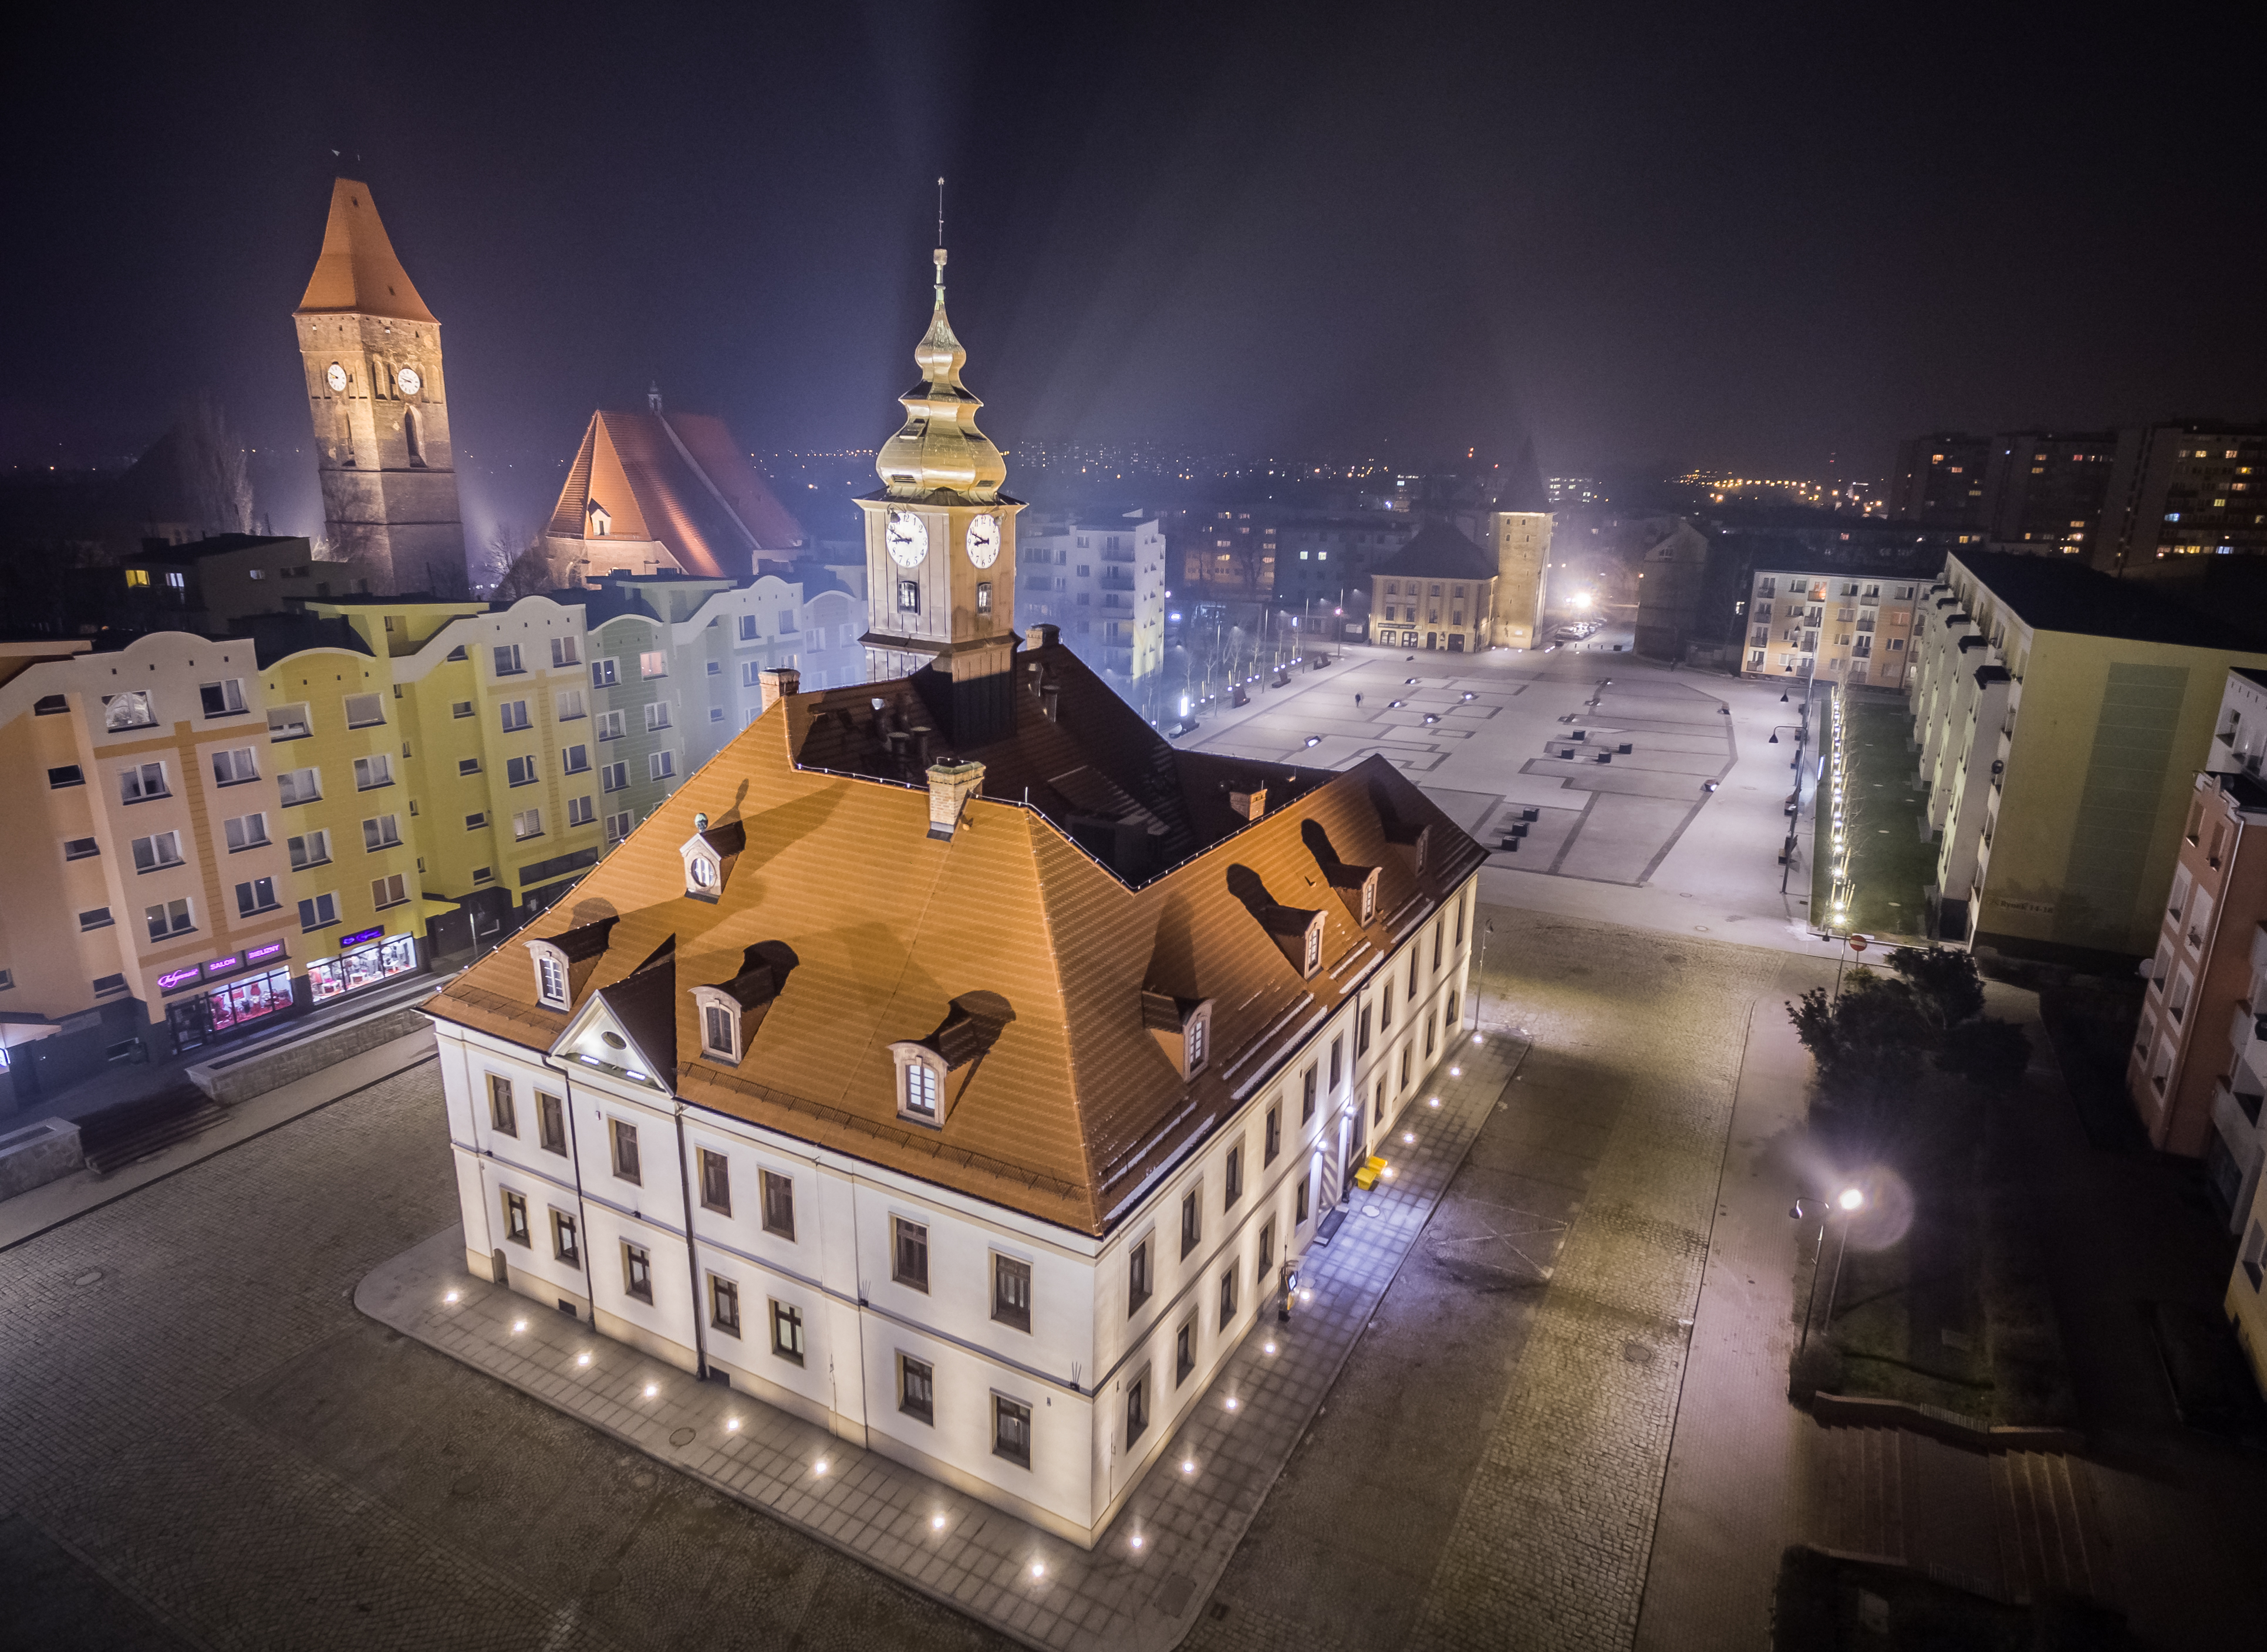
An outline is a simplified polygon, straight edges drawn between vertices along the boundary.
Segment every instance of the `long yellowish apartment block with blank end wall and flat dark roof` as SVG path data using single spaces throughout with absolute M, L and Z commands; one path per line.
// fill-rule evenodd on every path
M 1913 653 L 1934 934 L 2092 968 L 2154 954 L 2222 684 L 2267 644 L 2070 560 L 1970 551 L 1927 589 Z

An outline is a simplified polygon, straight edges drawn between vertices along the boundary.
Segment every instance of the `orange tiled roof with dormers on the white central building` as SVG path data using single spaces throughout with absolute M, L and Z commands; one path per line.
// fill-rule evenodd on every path
M 1061 682 L 1090 678 L 1061 646 L 1029 653 Z M 1186 814 L 1204 816 L 1192 827 L 1199 841 L 1147 882 L 1109 870 L 1020 795 L 970 802 L 959 832 L 934 841 L 927 786 L 796 764 L 814 725 L 898 687 L 775 705 L 524 938 L 617 918 L 576 1006 L 605 993 L 617 1013 L 651 1017 L 673 1002 L 673 1040 L 651 1022 L 632 1038 L 655 1063 L 676 1061 L 673 1088 L 689 1104 L 1079 1233 L 1106 1233 L 1131 1212 L 1485 859 L 1376 757 L 1335 775 L 1294 770 L 1290 782 L 1267 770 L 1290 800 L 1256 823 L 1224 807 L 1206 814 L 1208 798 L 1186 800 Z M 1072 709 L 1084 698 L 1068 696 L 1063 721 L 1047 727 L 1072 743 L 1090 734 Z M 1011 741 L 1031 723 L 1045 714 L 1022 691 Z M 1115 741 L 1122 730 L 1102 730 L 1102 743 Z M 1211 770 L 1183 775 L 1183 786 L 1208 784 Z M 714 904 L 685 895 L 678 848 L 696 814 L 744 832 Z M 1421 872 L 1406 848 L 1417 829 L 1428 832 Z M 1335 863 L 1381 868 L 1369 927 L 1333 888 Z M 1322 913 L 1313 979 L 1270 931 L 1263 900 L 1299 922 Z M 698 1054 L 689 988 L 735 981 L 759 943 L 784 943 L 791 965 L 775 972 L 784 983 L 741 1065 L 728 1067 Z M 673 972 L 666 995 L 655 986 L 662 970 Z M 1145 988 L 1213 999 L 1213 1061 L 1192 1083 L 1145 1027 Z M 635 1004 L 617 1006 L 619 993 Z M 941 1129 L 900 1119 L 889 1045 L 943 1031 L 970 995 L 997 995 L 1011 1020 L 1000 1017 L 977 1061 L 952 1070 Z M 428 1011 L 530 1049 L 549 1049 L 569 1022 L 535 1002 L 524 945 L 476 963 Z

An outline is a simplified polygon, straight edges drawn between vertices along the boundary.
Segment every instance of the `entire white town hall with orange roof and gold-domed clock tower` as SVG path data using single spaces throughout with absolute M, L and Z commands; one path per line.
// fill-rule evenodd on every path
M 766 673 L 431 999 L 465 1262 L 1093 1545 L 1471 1036 L 1485 852 L 1018 637 L 941 290 L 918 360 L 861 501 L 895 675 Z

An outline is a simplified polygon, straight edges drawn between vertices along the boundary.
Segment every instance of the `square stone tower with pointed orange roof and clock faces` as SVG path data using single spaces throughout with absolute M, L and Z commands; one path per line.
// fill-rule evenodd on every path
M 465 587 L 440 322 L 354 179 L 331 184 L 322 256 L 292 313 L 315 419 L 324 533 L 367 589 Z

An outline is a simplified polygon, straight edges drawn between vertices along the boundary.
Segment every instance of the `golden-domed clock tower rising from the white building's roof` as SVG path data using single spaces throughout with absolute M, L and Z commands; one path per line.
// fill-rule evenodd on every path
M 977 428 L 984 403 L 961 383 L 968 351 L 945 320 L 945 249 L 936 249 L 936 313 L 914 349 L 920 383 L 898 401 L 905 426 L 873 467 L 866 512 L 871 680 L 923 680 L 925 698 L 963 750 L 1013 727 L 1016 512 L 1000 492 L 1007 460 Z

